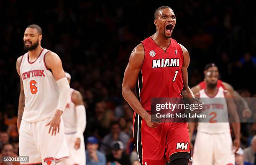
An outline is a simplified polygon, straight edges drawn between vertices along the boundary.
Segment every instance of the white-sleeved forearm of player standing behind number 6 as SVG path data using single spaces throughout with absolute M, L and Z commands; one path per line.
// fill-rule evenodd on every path
M 76 137 L 81 138 L 83 136 L 86 127 L 86 112 L 84 105 L 78 105 L 75 107 L 77 116 L 77 133 Z

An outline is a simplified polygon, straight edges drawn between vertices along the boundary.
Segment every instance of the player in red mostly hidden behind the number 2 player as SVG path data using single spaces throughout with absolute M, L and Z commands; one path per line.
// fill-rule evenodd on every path
M 218 67 L 214 63 L 205 65 L 204 75 L 208 71 L 216 72 L 217 76 L 219 76 Z M 230 92 L 230 94 L 233 96 L 234 100 L 236 102 L 239 102 L 239 104 L 240 103 L 242 104 L 242 106 L 244 108 L 243 112 L 242 112 L 243 117 L 251 117 L 251 110 L 248 107 L 248 103 L 246 102 L 246 100 L 244 100 L 243 97 L 241 97 L 241 95 L 239 95 L 238 92 L 236 92 L 234 90 L 234 88 L 230 84 L 228 84 L 227 82 L 218 80 L 217 87 L 223 87 L 223 89 L 228 90 Z M 195 93 L 198 93 L 201 89 L 205 89 L 205 88 L 206 88 L 206 82 L 204 80 L 204 81 L 200 82 L 198 85 L 196 85 L 195 87 L 192 87 L 191 90 L 195 94 Z

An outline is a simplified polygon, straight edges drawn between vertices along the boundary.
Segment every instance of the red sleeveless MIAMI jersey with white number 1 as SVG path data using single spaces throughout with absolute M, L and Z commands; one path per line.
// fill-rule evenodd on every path
M 146 111 L 151 110 L 151 98 L 182 97 L 183 51 L 176 40 L 170 40 L 165 51 L 151 37 L 142 41 L 145 55 L 136 92 Z

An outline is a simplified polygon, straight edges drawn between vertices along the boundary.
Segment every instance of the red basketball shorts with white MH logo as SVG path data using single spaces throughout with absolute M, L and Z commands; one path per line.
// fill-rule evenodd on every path
M 191 158 L 186 122 L 162 122 L 157 128 L 150 128 L 134 113 L 133 136 L 141 165 L 165 165 L 175 159 Z

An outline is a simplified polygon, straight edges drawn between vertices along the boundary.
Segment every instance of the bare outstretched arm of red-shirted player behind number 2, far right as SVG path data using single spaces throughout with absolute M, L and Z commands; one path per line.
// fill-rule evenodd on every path
M 251 110 L 249 109 L 248 103 L 246 102 L 246 100 L 241 95 L 239 95 L 239 93 L 236 92 L 230 84 L 228 84 L 227 82 L 222 82 L 222 84 L 224 85 L 225 90 L 228 90 L 230 92 L 230 94 L 233 96 L 233 99 L 236 102 L 242 103 L 243 108 L 244 108 L 243 116 L 244 117 L 251 117 Z

